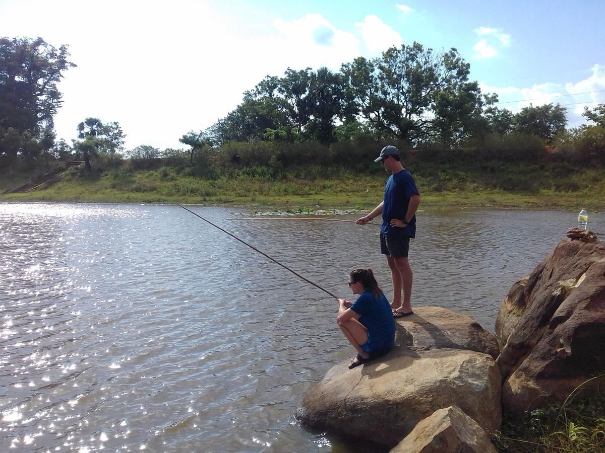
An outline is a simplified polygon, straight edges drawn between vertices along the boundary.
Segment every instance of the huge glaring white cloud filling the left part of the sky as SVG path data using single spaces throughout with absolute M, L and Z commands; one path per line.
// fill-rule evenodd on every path
M 234 16 L 197 0 L 145 8 L 120 0 L 105 0 L 103 8 L 0 0 L 0 17 L 15 19 L 2 22 L 2 36 L 69 45 L 78 66 L 59 83 L 64 102 L 54 118 L 57 139 L 68 143 L 80 121 L 98 117 L 120 123 L 128 149 L 183 147 L 178 138 L 223 118 L 263 77 L 281 76 L 288 66 L 336 71 L 361 55 L 354 34 L 319 14 L 274 23 L 247 5 Z

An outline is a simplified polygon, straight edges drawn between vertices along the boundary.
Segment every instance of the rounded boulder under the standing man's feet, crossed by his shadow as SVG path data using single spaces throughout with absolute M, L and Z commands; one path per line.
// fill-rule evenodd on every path
M 413 315 L 399 318 L 395 344 L 415 351 L 465 349 L 491 355 L 494 360 L 500 353 L 494 335 L 477 321 L 442 307 L 414 307 Z

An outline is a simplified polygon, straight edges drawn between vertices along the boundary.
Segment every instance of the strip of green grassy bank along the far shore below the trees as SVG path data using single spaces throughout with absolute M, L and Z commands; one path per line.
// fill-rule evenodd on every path
M 422 194 L 424 208 L 456 206 L 548 208 L 589 211 L 605 209 L 603 170 L 557 178 L 557 169 L 509 168 L 507 172 L 477 174 L 450 167 L 410 168 Z M 423 168 L 424 167 L 424 168 Z M 509 166 L 510 167 L 510 166 Z M 262 170 L 258 170 L 262 173 Z M 259 174 L 236 174 L 204 179 L 162 167 L 157 170 L 111 169 L 83 172 L 74 169 L 58 182 L 26 194 L 4 194 L 2 201 L 79 201 L 126 203 L 238 204 L 276 208 L 370 208 L 381 199 L 385 173 L 357 175 L 345 169 L 333 175 L 307 176 L 290 172 L 273 179 Z M 0 188 L 16 187 L 30 176 L 2 178 Z M 500 181 L 494 184 L 494 178 Z M 567 190 L 558 185 L 568 186 Z M 518 187 L 515 189 L 515 187 Z

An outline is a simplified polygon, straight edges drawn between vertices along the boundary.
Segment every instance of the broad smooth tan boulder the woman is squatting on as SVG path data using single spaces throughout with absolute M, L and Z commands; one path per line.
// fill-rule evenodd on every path
M 410 316 L 411 318 L 411 316 Z M 461 349 L 395 347 L 376 361 L 333 367 L 304 398 L 307 426 L 397 445 L 420 420 L 459 406 L 487 432 L 499 429 L 500 373 L 491 356 Z

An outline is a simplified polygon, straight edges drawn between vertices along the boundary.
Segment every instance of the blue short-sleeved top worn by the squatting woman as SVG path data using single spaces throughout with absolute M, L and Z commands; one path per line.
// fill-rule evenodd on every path
M 359 322 L 368 329 L 368 352 L 387 353 L 395 344 L 395 320 L 384 294 L 374 296 L 370 289 L 359 296 L 351 309 L 358 313 Z M 365 348 L 364 348 L 365 349 Z

